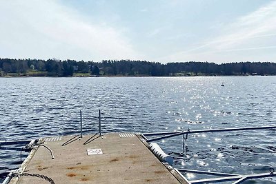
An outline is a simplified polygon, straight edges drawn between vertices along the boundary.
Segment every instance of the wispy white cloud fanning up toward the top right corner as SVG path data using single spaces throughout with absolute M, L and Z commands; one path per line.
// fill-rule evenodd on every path
M 259 50 L 259 55 L 255 56 L 254 60 L 267 60 L 269 56 L 264 50 L 271 52 L 276 48 L 274 44 L 276 41 L 276 1 L 240 17 L 233 23 L 221 24 L 217 32 L 221 34 L 217 34 L 216 37 L 204 43 L 159 59 L 162 61 L 242 61 L 254 59 L 253 55 Z M 242 50 L 248 52 L 237 53 Z M 228 60 L 226 60 L 223 52 L 233 53 L 228 55 Z M 270 54 L 270 60 L 272 57 L 274 54 Z

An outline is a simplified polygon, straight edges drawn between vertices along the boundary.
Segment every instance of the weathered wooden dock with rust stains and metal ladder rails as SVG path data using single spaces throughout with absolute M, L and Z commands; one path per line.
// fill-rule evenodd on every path
M 99 134 L 43 139 L 23 163 L 26 174 L 40 174 L 55 183 L 182 183 L 172 167 L 148 150 L 139 134 Z M 25 166 L 24 166 L 25 165 Z M 11 184 L 49 183 L 37 176 L 14 177 Z

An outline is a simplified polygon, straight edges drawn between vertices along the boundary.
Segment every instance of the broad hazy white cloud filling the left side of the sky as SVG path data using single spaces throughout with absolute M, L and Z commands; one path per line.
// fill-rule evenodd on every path
M 57 1 L 0 1 L 0 12 L 0 57 L 139 59 L 124 28 L 95 23 Z

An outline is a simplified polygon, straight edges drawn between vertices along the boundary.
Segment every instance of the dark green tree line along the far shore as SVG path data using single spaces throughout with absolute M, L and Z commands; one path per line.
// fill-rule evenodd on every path
M 271 62 L 177 62 L 161 64 L 149 61 L 103 60 L 75 61 L 58 59 L 0 59 L 0 76 L 223 76 L 275 75 Z M 79 75 L 81 76 L 81 75 Z

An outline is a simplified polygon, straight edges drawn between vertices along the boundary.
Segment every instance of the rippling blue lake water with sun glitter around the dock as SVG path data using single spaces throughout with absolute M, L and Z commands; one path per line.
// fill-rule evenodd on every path
M 276 124 L 276 76 L 0 78 L 0 88 L 0 141 L 76 134 L 80 110 L 86 134 L 97 129 L 98 110 L 103 132 Z M 157 143 L 177 168 L 253 174 L 276 170 L 275 138 L 274 129 L 190 134 L 184 149 L 182 136 Z M 0 150 L 0 181 L 19 163 L 20 152 Z

